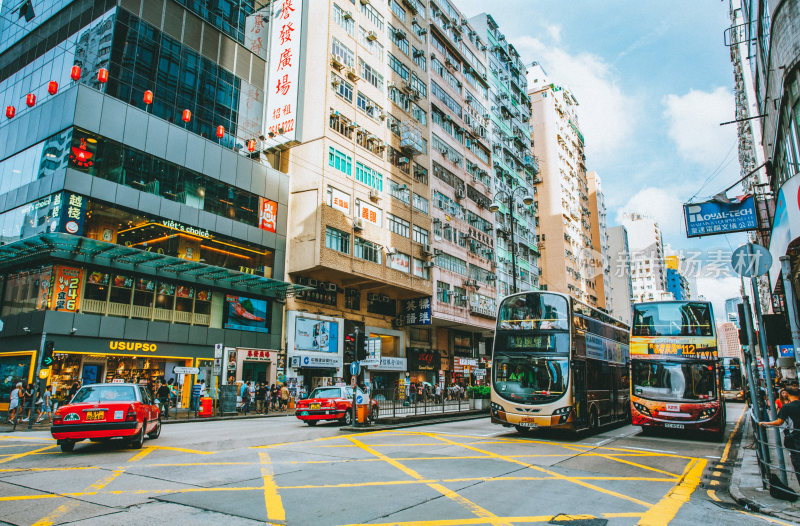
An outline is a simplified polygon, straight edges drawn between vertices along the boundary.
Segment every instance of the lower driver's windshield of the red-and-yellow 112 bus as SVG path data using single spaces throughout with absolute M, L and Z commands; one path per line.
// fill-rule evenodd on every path
M 696 402 L 717 396 L 714 365 L 709 362 L 633 360 L 633 394 L 661 401 Z

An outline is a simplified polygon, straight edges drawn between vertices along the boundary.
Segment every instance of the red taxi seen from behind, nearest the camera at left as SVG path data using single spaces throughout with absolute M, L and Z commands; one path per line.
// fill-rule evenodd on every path
M 61 451 L 89 439 L 103 441 L 124 438 L 134 449 L 142 447 L 144 436 L 158 438 L 161 415 L 146 387 L 138 384 L 92 384 L 82 387 L 69 404 L 59 407 L 50 433 Z

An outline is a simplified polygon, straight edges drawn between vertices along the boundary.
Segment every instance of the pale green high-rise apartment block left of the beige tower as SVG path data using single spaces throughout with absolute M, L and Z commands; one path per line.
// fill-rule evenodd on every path
M 519 53 L 506 41 L 491 15 L 482 13 L 471 18 L 470 23 L 488 46 L 491 110 L 487 128 L 493 152 L 494 201 L 501 205 L 495 215 L 495 232 L 497 292 L 499 297 L 503 297 L 513 292 L 514 272 L 517 273 L 517 291 L 539 287 L 536 208 L 522 202 L 522 198 L 536 194 L 534 185 L 539 181 L 539 167 L 531 141 L 527 70 Z M 509 195 L 512 195 L 513 211 L 508 209 Z M 514 247 L 511 246 L 512 213 Z M 512 250 L 515 253 L 513 259 Z

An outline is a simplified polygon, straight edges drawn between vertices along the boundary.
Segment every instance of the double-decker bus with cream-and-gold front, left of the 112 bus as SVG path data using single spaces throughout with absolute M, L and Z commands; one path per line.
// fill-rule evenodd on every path
M 626 422 L 629 328 L 555 292 L 503 299 L 492 353 L 492 422 L 526 433 Z

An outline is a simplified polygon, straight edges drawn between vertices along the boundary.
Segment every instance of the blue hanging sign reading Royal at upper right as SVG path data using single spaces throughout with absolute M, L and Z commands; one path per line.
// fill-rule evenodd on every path
M 686 236 L 699 237 L 758 228 L 756 204 L 752 195 L 730 204 L 707 201 L 683 205 Z

